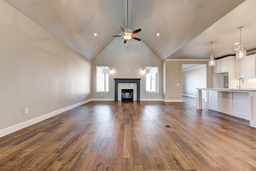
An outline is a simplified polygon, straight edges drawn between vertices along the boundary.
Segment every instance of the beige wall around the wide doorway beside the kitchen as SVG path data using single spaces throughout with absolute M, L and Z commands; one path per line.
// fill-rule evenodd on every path
M 182 100 L 182 64 L 206 64 L 206 86 L 212 88 L 212 67 L 208 67 L 208 61 L 165 60 L 165 100 Z

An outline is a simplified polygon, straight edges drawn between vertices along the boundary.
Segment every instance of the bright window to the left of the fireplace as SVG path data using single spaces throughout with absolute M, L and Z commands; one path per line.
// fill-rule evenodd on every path
M 96 91 L 108 91 L 108 66 L 96 66 Z

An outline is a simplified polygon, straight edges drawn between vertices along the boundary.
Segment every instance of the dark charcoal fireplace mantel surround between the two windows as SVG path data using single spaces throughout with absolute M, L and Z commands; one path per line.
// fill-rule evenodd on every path
M 140 80 L 141 78 L 114 78 L 115 80 L 115 101 L 118 101 L 118 83 L 136 83 L 137 101 L 140 101 Z

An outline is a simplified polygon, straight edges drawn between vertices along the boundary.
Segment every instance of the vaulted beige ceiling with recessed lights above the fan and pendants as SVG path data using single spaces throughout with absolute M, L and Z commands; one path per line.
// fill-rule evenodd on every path
M 127 0 L 5 1 L 90 60 L 114 40 L 111 35 L 122 34 L 118 26 L 127 28 Z M 212 41 L 215 58 L 234 55 L 239 26 L 245 26 L 244 49 L 256 48 L 256 0 L 128 2 L 128 28 L 141 28 L 135 36 L 161 60 L 208 59 Z M 123 44 L 123 38 L 116 39 Z M 93 50 L 95 45 L 98 48 Z

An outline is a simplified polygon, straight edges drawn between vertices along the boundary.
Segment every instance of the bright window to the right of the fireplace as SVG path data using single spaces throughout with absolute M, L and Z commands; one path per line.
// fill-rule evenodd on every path
M 146 91 L 158 92 L 158 67 L 146 67 Z

